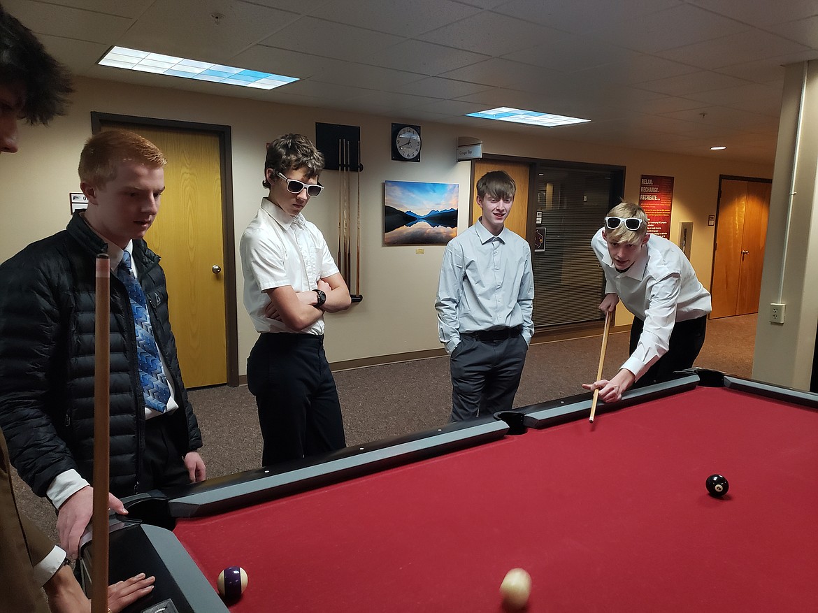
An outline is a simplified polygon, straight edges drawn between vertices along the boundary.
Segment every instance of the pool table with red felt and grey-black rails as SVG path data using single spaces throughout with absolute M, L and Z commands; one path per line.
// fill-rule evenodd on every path
M 532 613 L 818 611 L 818 395 L 690 371 L 594 423 L 590 405 L 128 499 L 141 519 L 112 517 L 110 579 L 156 575 L 128 613 L 495 613 L 517 566 Z M 234 565 L 249 587 L 224 603 Z

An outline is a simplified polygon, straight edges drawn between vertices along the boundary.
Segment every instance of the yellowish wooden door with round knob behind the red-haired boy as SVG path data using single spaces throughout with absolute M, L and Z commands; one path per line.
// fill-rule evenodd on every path
M 186 387 L 227 383 L 222 173 L 218 135 L 106 123 L 137 132 L 168 159 L 160 212 L 145 237 L 162 257 L 170 324 Z M 213 272 L 218 266 L 218 273 Z

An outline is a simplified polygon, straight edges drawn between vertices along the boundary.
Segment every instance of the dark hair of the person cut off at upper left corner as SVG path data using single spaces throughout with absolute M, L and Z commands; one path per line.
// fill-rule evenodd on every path
M 0 7 L 0 83 L 25 87 L 22 119 L 45 125 L 65 114 L 71 74 L 48 55 L 31 30 Z

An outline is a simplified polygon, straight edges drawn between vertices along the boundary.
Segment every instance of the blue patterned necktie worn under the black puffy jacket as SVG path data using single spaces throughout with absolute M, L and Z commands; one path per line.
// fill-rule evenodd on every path
M 117 266 L 116 276 L 125 285 L 125 289 L 128 290 L 128 298 L 131 301 L 134 329 L 137 332 L 139 378 L 142 380 L 145 405 L 149 409 L 164 413 L 168 409 L 168 399 L 170 398 L 168 379 L 165 378 L 162 371 L 159 348 L 156 347 L 151 321 L 148 319 L 145 293 L 131 272 L 131 254 L 127 251 L 122 252 L 122 262 L 119 262 L 119 266 Z

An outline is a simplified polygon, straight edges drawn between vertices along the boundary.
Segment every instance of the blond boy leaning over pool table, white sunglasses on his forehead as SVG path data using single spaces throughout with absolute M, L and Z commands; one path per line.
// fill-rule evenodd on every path
M 613 311 L 621 300 L 634 315 L 631 356 L 619 372 L 582 384 L 599 389 L 603 402 L 614 402 L 629 387 L 667 380 L 693 365 L 704 343 L 710 293 L 676 244 L 648 234 L 648 217 L 638 204 L 613 207 L 591 247 L 605 272 L 600 311 Z

